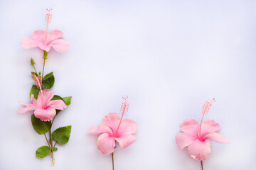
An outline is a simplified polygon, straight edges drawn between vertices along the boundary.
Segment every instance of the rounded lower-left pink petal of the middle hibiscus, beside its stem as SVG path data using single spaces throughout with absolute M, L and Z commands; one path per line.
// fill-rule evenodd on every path
M 97 139 L 97 149 L 99 149 L 102 155 L 109 155 L 114 152 L 114 146 L 114 137 L 107 133 L 103 133 Z

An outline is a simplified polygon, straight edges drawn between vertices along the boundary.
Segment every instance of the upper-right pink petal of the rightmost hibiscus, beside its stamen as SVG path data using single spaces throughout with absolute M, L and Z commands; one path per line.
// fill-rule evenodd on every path
M 220 129 L 220 125 L 218 123 L 215 123 L 215 120 L 206 120 L 202 124 L 201 137 L 210 132 L 217 132 Z

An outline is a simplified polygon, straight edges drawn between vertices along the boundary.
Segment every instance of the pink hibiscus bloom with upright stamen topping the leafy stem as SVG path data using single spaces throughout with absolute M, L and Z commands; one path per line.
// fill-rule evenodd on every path
M 48 9 L 47 9 L 48 10 Z M 52 14 L 48 10 L 46 14 L 46 31 L 36 30 L 31 37 L 26 37 L 21 39 L 21 46 L 25 49 L 31 47 L 40 47 L 42 50 L 48 52 L 50 47 L 53 47 L 57 52 L 67 52 L 70 46 L 70 43 L 66 40 L 61 40 L 60 38 L 64 37 L 63 32 L 60 30 L 54 29 L 50 30 L 48 33 L 48 26 L 50 24 Z

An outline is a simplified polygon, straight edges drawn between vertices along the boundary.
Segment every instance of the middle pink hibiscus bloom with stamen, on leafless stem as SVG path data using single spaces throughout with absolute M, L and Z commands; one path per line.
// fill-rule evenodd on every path
M 137 132 L 137 123 L 129 119 L 122 120 L 129 107 L 127 98 L 124 100 L 121 107 L 121 118 L 117 113 L 110 113 L 105 115 L 102 125 L 93 126 L 87 131 L 87 133 L 94 135 L 101 134 L 97 139 L 97 149 L 102 155 L 109 155 L 114 152 L 115 141 L 119 143 L 121 148 L 129 147 L 136 141 L 133 134 Z

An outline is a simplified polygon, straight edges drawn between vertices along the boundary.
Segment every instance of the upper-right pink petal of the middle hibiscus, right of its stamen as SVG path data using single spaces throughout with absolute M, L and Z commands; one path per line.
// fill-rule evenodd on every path
M 137 123 L 133 120 L 125 119 L 119 127 L 118 134 L 134 134 L 138 130 Z

